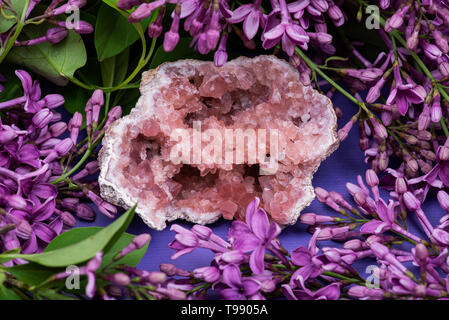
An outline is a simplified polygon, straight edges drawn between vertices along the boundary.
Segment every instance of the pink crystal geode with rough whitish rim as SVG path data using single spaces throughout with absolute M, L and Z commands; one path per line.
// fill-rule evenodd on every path
M 124 208 L 138 203 L 136 212 L 154 229 L 178 218 L 200 224 L 220 216 L 242 219 L 254 197 L 274 221 L 294 224 L 315 196 L 313 173 L 338 146 L 331 101 L 301 84 L 297 70 L 274 56 L 240 57 L 219 68 L 196 60 L 164 63 L 143 74 L 140 91 L 131 114 L 106 132 L 99 183 L 106 200 Z M 190 160 L 198 152 L 198 123 L 201 132 L 215 129 L 222 137 L 226 130 L 266 129 L 266 144 L 253 149 L 254 140 L 244 137 L 238 162 L 235 133 L 200 162 L 173 161 L 182 148 Z M 276 156 L 270 154 L 275 137 Z M 200 155 L 217 142 L 204 135 L 199 141 Z M 254 162 L 254 150 L 265 156 Z M 277 170 L 264 171 L 272 156 Z

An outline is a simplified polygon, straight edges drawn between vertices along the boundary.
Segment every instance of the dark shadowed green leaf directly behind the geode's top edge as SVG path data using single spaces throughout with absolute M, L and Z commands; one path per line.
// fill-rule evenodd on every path
M 154 69 L 160 64 L 168 61 L 176 61 L 179 59 L 199 59 L 211 60 L 213 54 L 202 55 L 190 48 L 192 38 L 181 38 L 176 48 L 171 52 L 165 52 L 163 46 L 159 46 L 151 59 L 150 69 Z

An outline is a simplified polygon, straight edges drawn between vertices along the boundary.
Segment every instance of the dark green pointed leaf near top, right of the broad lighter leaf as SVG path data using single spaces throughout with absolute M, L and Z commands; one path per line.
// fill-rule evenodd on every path
M 113 57 L 139 39 L 136 29 L 124 16 L 102 5 L 95 26 L 95 48 L 99 61 Z

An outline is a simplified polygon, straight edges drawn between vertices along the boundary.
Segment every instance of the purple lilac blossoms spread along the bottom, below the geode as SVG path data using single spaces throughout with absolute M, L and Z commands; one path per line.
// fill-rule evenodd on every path
M 390 178 L 395 187 L 388 202 L 379 196 L 379 179 L 371 169 L 366 183 L 359 176 L 357 184 L 347 184 L 354 206 L 336 192 L 317 188 L 318 199 L 338 215 L 300 216 L 313 234 L 307 247 L 286 250 L 278 238 L 281 228 L 269 221 L 256 198 L 247 207 L 246 220 L 233 221 L 226 240 L 206 226 L 189 230 L 172 225 L 172 259 L 202 248 L 213 253 L 210 265 L 187 271 L 161 264 L 160 271 L 152 272 L 119 265 L 114 276 L 97 273 L 110 282 L 92 291 L 95 276 L 89 276 L 89 266 L 99 267 L 95 261 L 100 254 L 83 273 L 90 283 L 86 293 L 103 299 L 124 294 L 135 299 L 205 299 L 211 291 L 226 300 L 447 299 L 449 216 L 442 213 L 440 223 L 432 226 L 421 208 L 426 190 L 409 187 L 397 172 Z M 447 212 L 449 195 L 440 191 L 438 200 Z M 408 230 L 405 212 L 416 216 L 421 230 Z M 146 243 L 141 238 L 149 236 L 135 241 Z M 339 244 L 318 246 L 328 240 Z M 124 251 L 117 257 L 129 249 Z M 358 271 L 366 264 L 373 267 L 372 279 Z

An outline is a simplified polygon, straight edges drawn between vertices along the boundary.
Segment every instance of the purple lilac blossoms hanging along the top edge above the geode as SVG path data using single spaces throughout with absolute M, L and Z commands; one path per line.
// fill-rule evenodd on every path
M 282 49 L 292 56 L 295 46 L 307 49 L 313 44 L 318 49 L 333 54 L 332 36 L 327 33 L 326 20 L 336 26 L 344 23 L 344 15 L 332 0 L 286 0 L 262 2 L 254 0 L 231 10 L 228 0 L 119 0 L 117 6 L 123 10 L 135 8 L 128 20 L 136 23 L 157 12 L 157 18 L 148 27 L 151 38 L 163 32 L 162 21 L 167 4 L 175 4 L 171 14 L 170 29 L 164 34 L 164 49 L 172 51 L 180 39 L 180 22 L 192 37 L 191 46 L 201 54 L 215 50 L 215 64 L 223 65 L 227 60 L 226 41 L 233 29 L 248 48 L 254 48 L 256 36 L 264 49 L 282 44 Z M 242 23 L 242 29 L 239 28 Z

